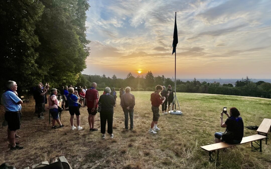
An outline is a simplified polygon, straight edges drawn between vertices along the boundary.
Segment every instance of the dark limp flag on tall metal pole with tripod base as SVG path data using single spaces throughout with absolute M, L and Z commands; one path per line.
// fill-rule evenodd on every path
M 173 43 L 172 43 L 172 47 L 173 47 L 173 51 L 172 51 L 172 55 L 173 53 L 175 53 L 175 95 L 174 95 L 174 103 L 172 103 L 172 106 L 171 106 L 171 110 L 169 111 L 170 114 L 178 114 L 178 115 L 182 115 L 182 111 L 180 109 L 180 104 L 179 104 L 179 101 L 178 101 L 178 98 L 176 96 L 176 46 L 178 44 L 178 31 L 177 31 L 177 22 L 176 22 L 176 13 L 175 12 L 175 25 L 174 25 L 174 33 L 173 33 Z M 176 101 L 178 103 L 178 107 L 179 107 L 179 110 L 176 110 Z M 173 110 L 173 104 L 175 104 L 175 109 Z

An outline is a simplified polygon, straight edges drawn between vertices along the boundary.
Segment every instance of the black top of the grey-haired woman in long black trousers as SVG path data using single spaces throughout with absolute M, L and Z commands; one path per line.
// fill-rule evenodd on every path
M 101 95 L 98 103 L 101 103 L 101 112 L 102 113 L 114 113 L 115 99 L 109 93 Z

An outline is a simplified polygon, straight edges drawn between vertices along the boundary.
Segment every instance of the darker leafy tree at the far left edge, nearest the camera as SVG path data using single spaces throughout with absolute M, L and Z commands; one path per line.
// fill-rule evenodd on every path
M 40 42 L 34 30 L 43 9 L 36 0 L 1 1 L 1 87 L 8 80 L 23 88 L 41 80 L 37 76 L 41 72 L 36 63 L 38 53 L 34 50 Z

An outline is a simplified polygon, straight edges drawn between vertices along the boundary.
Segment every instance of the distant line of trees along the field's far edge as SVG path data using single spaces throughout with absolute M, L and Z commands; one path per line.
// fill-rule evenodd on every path
M 77 85 L 90 87 L 91 82 L 98 84 L 97 90 L 102 91 L 105 87 L 131 87 L 132 91 L 154 91 L 156 85 L 171 85 L 174 88 L 174 82 L 170 78 L 165 78 L 164 75 L 154 77 L 151 71 L 148 71 L 145 76 L 134 77 L 132 73 L 128 73 L 125 79 L 117 78 L 115 75 L 106 77 L 106 75 L 82 75 L 80 82 Z M 271 84 L 264 81 L 252 82 L 249 77 L 241 79 L 233 84 L 223 84 L 218 82 L 207 83 L 206 81 L 200 82 L 194 78 L 193 81 L 176 81 L 177 92 L 190 92 L 190 93 L 209 93 L 209 94 L 222 94 L 222 95 L 236 95 L 236 96 L 251 96 L 271 98 Z

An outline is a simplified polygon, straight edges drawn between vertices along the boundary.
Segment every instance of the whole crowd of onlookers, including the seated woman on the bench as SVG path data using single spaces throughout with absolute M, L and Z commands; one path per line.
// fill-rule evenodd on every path
M 20 129 L 20 119 L 21 119 L 21 104 L 22 100 L 18 97 L 16 92 L 17 84 L 14 81 L 8 81 L 6 84 L 7 90 L 2 94 L 2 104 L 5 108 L 5 120 L 8 124 L 8 140 L 11 146 L 11 150 L 22 149 L 23 147 L 18 146 L 15 142 L 15 138 L 20 137 L 16 134 L 16 130 Z M 49 104 L 49 113 L 53 117 L 52 128 L 56 129 L 58 127 L 62 128 L 64 125 L 60 122 L 59 119 L 59 107 L 62 106 L 66 111 L 70 113 L 70 125 L 71 130 L 82 130 L 83 127 L 80 126 L 80 107 L 87 107 L 88 111 L 88 122 L 89 122 L 89 131 L 98 131 L 99 129 L 94 127 L 95 115 L 97 112 L 100 113 L 100 122 L 101 122 L 101 134 L 102 139 L 105 139 L 105 131 L 107 124 L 107 132 L 111 138 L 114 137 L 113 134 L 113 115 L 114 107 L 117 106 L 117 92 L 115 88 L 112 88 L 112 91 L 109 87 L 104 89 L 104 93 L 99 97 L 99 93 L 96 90 L 97 84 L 93 82 L 91 88 L 86 89 L 86 86 L 81 88 L 73 88 L 72 85 L 63 86 L 60 90 L 60 96 L 63 96 L 62 105 L 59 105 L 59 100 L 57 100 L 57 89 L 51 88 L 51 94 L 46 97 L 49 91 L 50 85 L 46 83 L 44 86 L 42 83 L 38 84 L 36 90 L 34 91 L 35 99 L 35 112 L 37 113 L 38 119 L 44 119 L 44 108 L 45 104 Z M 120 106 L 124 112 L 124 130 L 133 130 L 134 128 L 134 106 L 135 106 L 135 97 L 130 93 L 131 88 L 126 87 L 120 88 Z M 161 92 L 161 95 L 160 95 Z M 156 91 L 151 93 L 151 110 L 153 112 L 153 119 L 150 125 L 149 133 L 156 134 L 160 128 L 157 127 L 158 120 L 160 117 L 159 107 L 162 105 L 162 113 L 167 114 L 170 111 L 170 107 L 174 106 L 174 90 L 170 85 L 166 90 L 165 86 L 157 85 Z M 173 108 L 173 107 L 172 107 Z M 237 108 L 230 108 L 230 114 L 227 112 L 227 120 L 223 122 L 223 115 L 225 112 L 221 112 L 220 125 L 221 127 L 226 127 L 225 132 L 216 132 L 215 133 L 215 142 L 219 143 L 225 141 L 232 144 L 238 144 L 243 138 L 243 120 L 240 117 L 240 112 Z M 76 115 L 76 124 L 74 126 L 74 115 Z M 130 129 L 128 127 L 130 117 Z M 56 126 L 56 122 L 59 126 Z M 227 133 L 227 134 L 225 134 Z M 224 135 L 224 137 L 223 137 Z M 228 135 L 226 138 L 226 135 Z M 229 137 L 229 135 L 231 135 Z

